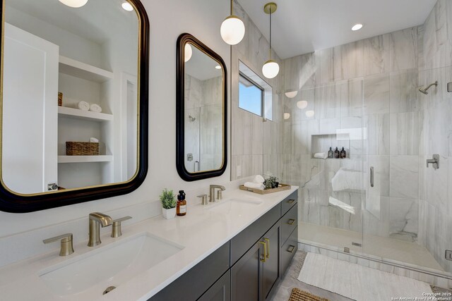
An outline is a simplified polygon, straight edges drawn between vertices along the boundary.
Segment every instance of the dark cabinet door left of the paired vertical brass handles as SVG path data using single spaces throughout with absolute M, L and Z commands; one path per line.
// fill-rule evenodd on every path
M 231 268 L 231 297 L 233 301 L 258 301 L 261 290 L 261 243 L 257 242 Z

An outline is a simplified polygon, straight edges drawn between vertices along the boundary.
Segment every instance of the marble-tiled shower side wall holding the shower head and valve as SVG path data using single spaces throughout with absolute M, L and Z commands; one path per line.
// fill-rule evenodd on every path
M 446 271 L 452 271 L 452 262 L 444 258 L 444 251 L 452 250 L 452 94 L 446 87 L 452 82 L 452 1 L 437 1 L 420 32 L 419 83 L 438 80 L 439 85 L 427 95 L 418 94 L 419 241 Z M 440 156 L 437 170 L 425 164 L 432 154 Z

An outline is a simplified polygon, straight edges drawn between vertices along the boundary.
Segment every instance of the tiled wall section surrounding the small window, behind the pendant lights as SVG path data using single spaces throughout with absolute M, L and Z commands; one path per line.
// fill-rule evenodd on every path
M 234 1 L 234 14 L 245 24 L 244 39 L 232 47 L 231 114 L 232 114 L 232 158 L 231 179 L 246 178 L 255 174 L 271 173 L 282 178 L 283 149 L 283 94 L 284 64 L 273 51 L 272 58 L 280 64 L 279 75 L 271 80 L 263 77 L 262 66 L 268 60 L 270 45 L 242 6 Z M 273 121 L 239 109 L 239 60 L 266 80 L 273 90 Z

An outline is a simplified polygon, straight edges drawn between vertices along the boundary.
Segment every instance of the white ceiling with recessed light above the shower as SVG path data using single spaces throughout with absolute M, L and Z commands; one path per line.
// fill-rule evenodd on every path
M 268 0 L 238 0 L 268 39 Z M 282 0 L 272 16 L 272 47 L 281 59 L 421 25 L 436 0 Z M 362 30 L 352 32 L 356 23 Z

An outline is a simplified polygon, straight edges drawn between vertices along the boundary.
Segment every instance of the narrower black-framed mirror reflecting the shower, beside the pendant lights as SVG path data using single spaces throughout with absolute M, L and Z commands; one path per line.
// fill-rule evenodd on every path
M 184 180 L 212 178 L 227 164 L 227 70 L 189 34 L 177 42 L 177 171 Z

